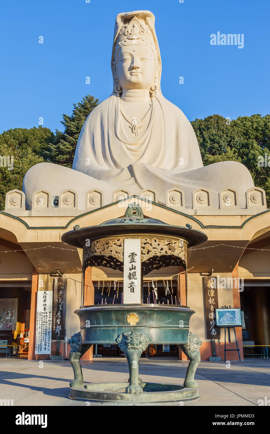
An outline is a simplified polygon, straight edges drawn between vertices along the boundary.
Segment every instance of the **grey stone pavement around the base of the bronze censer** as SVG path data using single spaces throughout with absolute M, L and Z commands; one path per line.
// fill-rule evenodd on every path
M 176 359 L 141 359 L 143 381 L 183 384 L 188 362 Z M 270 399 L 270 359 L 249 358 L 244 362 L 201 362 L 195 380 L 200 401 L 185 406 L 257 406 Z M 127 381 L 126 360 L 94 358 L 82 362 L 85 382 Z M 14 406 L 85 406 L 67 398 L 73 380 L 68 361 L 27 361 L 0 358 L 0 399 L 13 399 Z M 179 404 L 178 404 L 179 405 Z

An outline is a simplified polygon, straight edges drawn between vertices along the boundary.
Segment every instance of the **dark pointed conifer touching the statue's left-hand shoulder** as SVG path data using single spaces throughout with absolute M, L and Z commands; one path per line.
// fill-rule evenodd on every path
M 81 128 L 87 116 L 98 105 L 98 99 L 86 95 L 81 102 L 73 104 L 72 115 L 63 115 L 64 132 L 56 130 L 55 138 L 47 147 L 44 156 L 55 164 L 72 168 L 75 149 Z

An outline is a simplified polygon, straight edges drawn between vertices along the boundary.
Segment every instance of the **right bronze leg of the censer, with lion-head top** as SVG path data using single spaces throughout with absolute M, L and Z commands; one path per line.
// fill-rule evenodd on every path
M 189 333 L 189 343 L 178 345 L 182 352 L 189 358 L 189 366 L 185 375 L 184 387 L 195 388 L 198 387 L 194 376 L 198 364 L 201 362 L 200 346 L 202 341 L 194 333 Z

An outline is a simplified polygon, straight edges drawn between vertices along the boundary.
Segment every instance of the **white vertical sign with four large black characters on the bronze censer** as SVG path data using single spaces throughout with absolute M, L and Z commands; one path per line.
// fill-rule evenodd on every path
M 141 303 L 140 238 L 124 240 L 124 304 Z

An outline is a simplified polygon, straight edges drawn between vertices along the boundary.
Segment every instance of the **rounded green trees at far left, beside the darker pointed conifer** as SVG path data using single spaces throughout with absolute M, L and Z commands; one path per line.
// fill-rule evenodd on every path
M 0 134 L 0 209 L 6 193 L 22 190 L 23 177 L 30 167 L 44 161 L 43 152 L 54 138 L 49 128 L 14 128 Z

